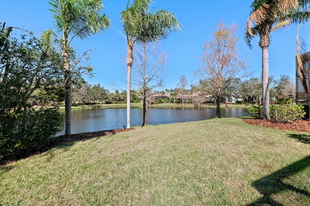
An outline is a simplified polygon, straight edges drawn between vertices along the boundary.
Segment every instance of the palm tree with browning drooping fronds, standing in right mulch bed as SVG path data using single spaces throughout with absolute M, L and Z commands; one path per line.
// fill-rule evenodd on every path
M 250 41 L 259 36 L 262 48 L 262 86 L 263 86 L 263 119 L 270 120 L 269 115 L 269 65 L 268 46 L 270 33 L 287 26 L 290 21 L 287 14 L 298 7 L 298 0 L 254 0 L 247 21 L 245 39 L 251 48 Z

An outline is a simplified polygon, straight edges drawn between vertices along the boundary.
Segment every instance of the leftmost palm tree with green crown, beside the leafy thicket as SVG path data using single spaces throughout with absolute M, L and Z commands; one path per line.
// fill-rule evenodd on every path
M 108 29 L 109 18 L 99 15 L 101 0 L 50 0 L 50 11 L 55 18 L 55 29 L 61 34 L 62 63 L 65 84 L 65 134 L 71 133 L 71 73 L 70 43 L 78 36 L 81 40 Z

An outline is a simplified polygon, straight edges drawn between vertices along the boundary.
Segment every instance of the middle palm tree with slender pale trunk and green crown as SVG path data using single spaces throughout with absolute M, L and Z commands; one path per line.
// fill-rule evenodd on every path
M 135 42 L 148 43 L 168 38 L 169 32 L 181 29 L 173 13 L 165 10 L 150 12 L 153 0 L 134 0 L 121 13 L 124 31 L 127 37 L 127 128 L 130 128 L 130 79 L 133 64 Z

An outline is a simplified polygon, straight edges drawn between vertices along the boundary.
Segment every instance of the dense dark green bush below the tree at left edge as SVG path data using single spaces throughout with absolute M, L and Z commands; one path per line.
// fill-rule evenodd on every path
M 33 108 L 0 115 L 0 160 L 29 153 L 61 132 L 63 115 L 58 108 Z

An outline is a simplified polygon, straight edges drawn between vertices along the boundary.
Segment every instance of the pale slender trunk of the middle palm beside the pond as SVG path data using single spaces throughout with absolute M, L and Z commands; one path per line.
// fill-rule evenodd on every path
M 133 48 L 134 48 L 134 40 L 132 38 L 127 38 L 127 128 L 130 128 L 130 80 L 131 80 L 131 67 L 133 64 Z

